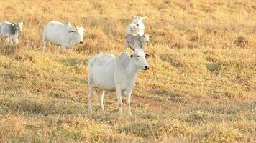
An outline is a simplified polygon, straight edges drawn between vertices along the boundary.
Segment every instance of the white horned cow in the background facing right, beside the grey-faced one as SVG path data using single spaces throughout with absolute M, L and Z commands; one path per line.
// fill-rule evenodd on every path
M 72 28 L 70 22 L 60 23 L 59 21 L 50 21 L 44 30 L 42 37 L 43 45 L 46 48 L 47 43 L 63 46 L 71 49 L 76 44 L 83 44 L 83 27 Z

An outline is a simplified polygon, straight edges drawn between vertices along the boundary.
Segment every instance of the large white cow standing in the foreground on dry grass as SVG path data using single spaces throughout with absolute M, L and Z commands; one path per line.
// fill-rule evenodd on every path
M 88 109 L 92 112 L 91 102 L 93 87 L 99 88 L 99 102 L 104 112 L 104 91 L 116 92 L 119 114 L 122 114 L 122 97 L 127 97 L 128 114 L 132 115 L 130 108 L 131 93 L 134 88 L 138 71 L 149 69 L 145 52 L 142 49 L 134 49 L 131 58 L 127 54 L 115 57 L 113 54 L 99 53 L 88 61 Z

